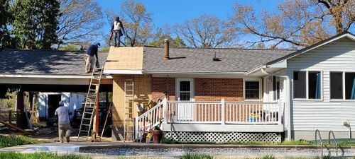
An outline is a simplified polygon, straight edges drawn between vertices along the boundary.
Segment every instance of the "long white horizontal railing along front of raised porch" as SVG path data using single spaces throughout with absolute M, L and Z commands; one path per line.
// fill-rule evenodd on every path
M 165 105 L 166 122 L 190 124 L 282 124 L 284 106 L 279 102 L 224 102 L 224 100 L 167 101 Z

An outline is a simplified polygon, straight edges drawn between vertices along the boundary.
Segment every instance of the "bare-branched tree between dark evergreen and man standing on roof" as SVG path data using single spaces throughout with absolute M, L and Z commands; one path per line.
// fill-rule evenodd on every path
M 101 33 L 102 8 L 93 0 L 60 0 L 58 48 L 65 43 L 89 41 Z

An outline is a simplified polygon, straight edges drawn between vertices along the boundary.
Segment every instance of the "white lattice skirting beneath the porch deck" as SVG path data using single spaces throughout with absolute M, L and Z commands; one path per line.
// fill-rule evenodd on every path
M 165 131 L 164 137 L 179 142 L 268 142 L 280 143 L 280 133 L 241 133 L 241 132 L 189 132 L 189 131 Z

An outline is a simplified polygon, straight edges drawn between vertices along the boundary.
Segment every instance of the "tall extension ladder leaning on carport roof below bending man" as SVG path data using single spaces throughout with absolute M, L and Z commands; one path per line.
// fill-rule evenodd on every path
M 94 117 L 95 105 L 97 104 L 97 98 L 99 98 L 99 87 L 102 79 L 102 69 L 95 69 L 92 71 L 92 76 L 89 84 L 89 90 L 87 91 L 87 98 L 84 103 L 84 110 L 82 112 L 82 122 L 80 122 L 79 133 L 77 134 L 77 141 L 79 141 L 80 133 L 87 133 L 87 139 L 89 138 L 90 131 L 92 129 L 92 118 Z M 97 105 L 99 107 L 99 105 Z

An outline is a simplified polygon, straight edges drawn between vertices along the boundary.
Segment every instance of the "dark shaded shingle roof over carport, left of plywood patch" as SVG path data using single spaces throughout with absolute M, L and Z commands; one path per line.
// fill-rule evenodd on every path
M 107 52 L 99 52 L 103 65 Z M 84 52 L 4 49 L 0 52 L 0 74 L 89 75 L 84 73 Z

